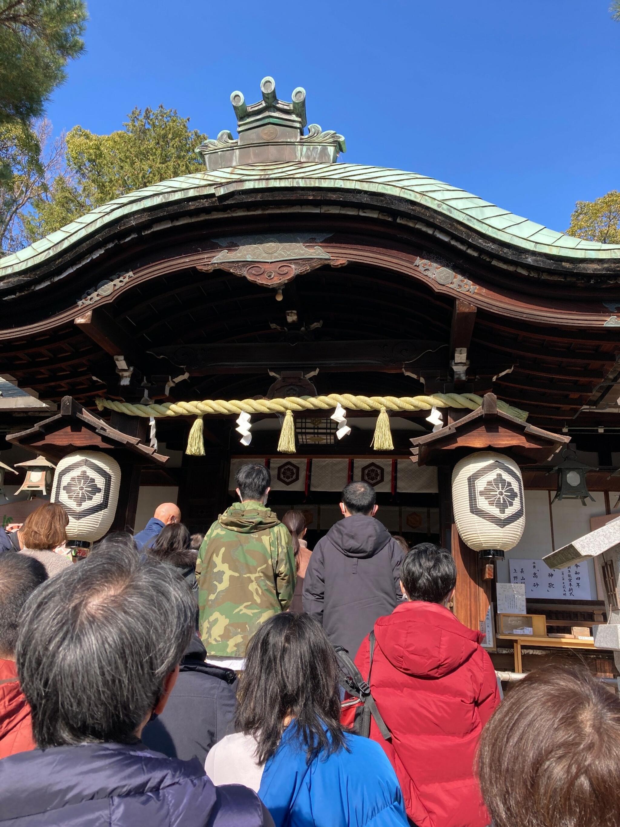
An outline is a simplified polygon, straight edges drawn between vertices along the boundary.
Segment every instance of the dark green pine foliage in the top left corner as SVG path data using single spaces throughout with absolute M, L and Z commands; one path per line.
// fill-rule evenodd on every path
M 0 125 L 40 117 L 83 51 L 84 0 L 0 0 Z

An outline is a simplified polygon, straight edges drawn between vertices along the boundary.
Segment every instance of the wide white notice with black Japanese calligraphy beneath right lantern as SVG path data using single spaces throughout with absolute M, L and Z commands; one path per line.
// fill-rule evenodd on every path
M 542 600 L 596 600 L 587 563 L 550 569 L 542 560 L 508 560 L 511 583 L 525 586 L 526 597 Z M 498 583 L 499 586 L 499 583 Z

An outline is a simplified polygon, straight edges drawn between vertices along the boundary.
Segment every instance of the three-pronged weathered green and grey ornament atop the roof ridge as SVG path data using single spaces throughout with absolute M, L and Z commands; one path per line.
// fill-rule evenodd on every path
M 231 94 L 239 137 L 224 129 L 198 146 L 207 170 L 282 161 L 334 164 L 346 152 L 344 137 L 333 130 L 322 131 L 317 123 L 311 123 L 304 135 L 306 90 L 301 86 L 293 89 L 290 103 L 279 100 L 273 78 L 263 78 L 260 91 L 262 100 L 250 104 L 241 92 Z

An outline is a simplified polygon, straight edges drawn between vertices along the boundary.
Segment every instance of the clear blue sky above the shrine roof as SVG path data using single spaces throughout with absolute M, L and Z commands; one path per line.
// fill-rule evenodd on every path
M 89 0 L 56 131 L 164 103 L 215 137 L 271 74 L 351 163 L 432 175 L 557 230 L 620 189 L 620 23 L 608 0 Z

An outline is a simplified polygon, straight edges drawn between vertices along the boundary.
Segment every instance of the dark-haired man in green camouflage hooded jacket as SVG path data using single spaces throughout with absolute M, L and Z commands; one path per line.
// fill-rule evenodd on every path
M 198 552 L 199 629 L 207 660 L 242 659 L 260 624 L 293 600 L 293 542 L 265 505 L 270 482 L 265 466 L 242 466 L 236 474 L 241 502 L 220 514 Z M 241 660 L 227 665 L 241 668 Z

